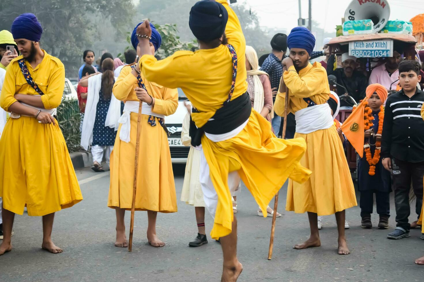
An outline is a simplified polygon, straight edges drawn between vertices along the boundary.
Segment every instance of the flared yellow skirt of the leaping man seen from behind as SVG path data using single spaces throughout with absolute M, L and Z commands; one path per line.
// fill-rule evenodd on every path
M 215 143 L 204 135 L 202 147 L 218 194 L 213 239 L 231 233 L 234 215 L 227 183 L 229 172 L 238 171 L 262 210 L 266 210 L 288 177 L 304 182 L 311 173 L 299 163 L 306 150 L 304 139 L 276 138 L 271 123 L 253 109 L 247 125 L 237 136 Z

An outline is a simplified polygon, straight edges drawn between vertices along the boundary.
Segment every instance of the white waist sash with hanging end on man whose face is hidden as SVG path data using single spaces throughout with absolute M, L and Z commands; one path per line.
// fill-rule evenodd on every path
M 119 133 L 119 138 L 124 142 L 130 141 L 130 133 L 131 133 L 131 113 L 138 113 L 139 102 L 137 101 L 126 101 L 124 106 L 124 112 L 118 122 L 122 124 L 121 131 Z M 156 116 L 162 119 L 165 119 L 164 115 L 159 113 L 152 112 L 152 106 L 147 105 L 147 103 L 143 102 L 141 113 L 143 115 L 148 116 Z

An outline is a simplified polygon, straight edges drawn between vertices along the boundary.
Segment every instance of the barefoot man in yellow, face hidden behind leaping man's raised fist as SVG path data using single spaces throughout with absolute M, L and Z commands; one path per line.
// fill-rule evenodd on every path
M 139 50 L 136 28 L 131 35 L 131 43 L 135 50 Z M 154 55 L 162 39 L 153 25 L 151 29 L 152 34 L 149 36 L 147 46 L 149 54 Z M 140 73 L 139 67 L 131 64 L 121 70 L 114 84 L 113 94 L 118 100 L 125 101 L 124 113 L 119 120 L 121 124 L 110 156 L 108 207 L 116 210 L 115 246 L 128 246 L 124 216 L 125 210 L 131 210 L 135 186 L 134 209 L 147 210 L 148 242 L 151 246 L 162 247 L 165 243 L 156 235 L 157 213 L 177 211 L 164 119 L 165 116 L 175 113 L 178 106 L 178 91 L 147 80 L 145 75 Z M 141 113 L 140 102 L 142 102 Z M 137 127 L 140 129 L 139 135 Z M 138 145 L 136 145 L 137 138 L 139 138 Z M 134 156 L 138 165 L 137 174 L 134 172 Z

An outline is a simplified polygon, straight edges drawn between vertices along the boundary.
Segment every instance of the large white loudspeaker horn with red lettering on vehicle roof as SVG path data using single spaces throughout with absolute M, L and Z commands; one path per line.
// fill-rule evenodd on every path
M 384 28 L 389 16 L 390 6 L 387 0 L 352 0 L 345 11 L 346 21 L 371 19 L 375 33 Z

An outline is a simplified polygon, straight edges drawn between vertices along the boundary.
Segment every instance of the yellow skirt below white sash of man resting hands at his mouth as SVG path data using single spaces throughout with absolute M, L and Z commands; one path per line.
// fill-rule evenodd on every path
M 301 165 L 312 171 L 303 184 L 289 180 L 286 210 L 326 216 L 357 205 L 349 166 L 335 126 L 309 134 Z

